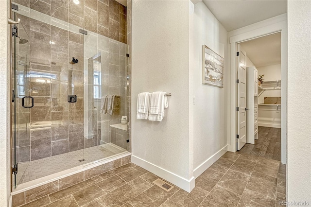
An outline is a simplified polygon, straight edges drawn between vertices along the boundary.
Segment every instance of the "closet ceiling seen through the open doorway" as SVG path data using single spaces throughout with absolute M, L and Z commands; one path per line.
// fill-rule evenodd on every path
M 281 33 L 240 43 L 256 67 L 281 64 Z

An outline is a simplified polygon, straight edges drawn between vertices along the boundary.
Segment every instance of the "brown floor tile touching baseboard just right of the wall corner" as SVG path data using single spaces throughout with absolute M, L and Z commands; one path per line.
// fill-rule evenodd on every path
M 210 192 L 225 173 L 208 168 L 198 178 L 195 179 L 195 186 Z

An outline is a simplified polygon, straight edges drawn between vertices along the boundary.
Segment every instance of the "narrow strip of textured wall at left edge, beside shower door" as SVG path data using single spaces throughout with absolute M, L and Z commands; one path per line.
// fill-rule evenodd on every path
M 0 0 L 0 206 L 9 206 L 10 195 L 10 86 L 7 24 L 9 0 Z

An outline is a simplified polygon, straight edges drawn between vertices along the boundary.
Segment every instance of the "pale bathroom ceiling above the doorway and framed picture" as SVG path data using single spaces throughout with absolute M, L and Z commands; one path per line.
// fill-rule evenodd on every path
M 286 13 L 286 0 L 203 0 L 227 32 Z

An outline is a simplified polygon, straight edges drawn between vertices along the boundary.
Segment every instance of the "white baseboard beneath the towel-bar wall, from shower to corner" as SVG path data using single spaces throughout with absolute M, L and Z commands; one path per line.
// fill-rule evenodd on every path
M 156 166 L 146 160 L 143 160 L 135 155 L 132 155 L 132 162 L 147 171 L 156 174 L 157 176 L 173 183 L 175 186 L 186 190 L 187 192 L 191 192 L 194 189 L 194 177 L 192 176 L 190 180 L 187 180 L 179 175 L 176 175 L 172 172 L 169 172 L 159 166 Z

